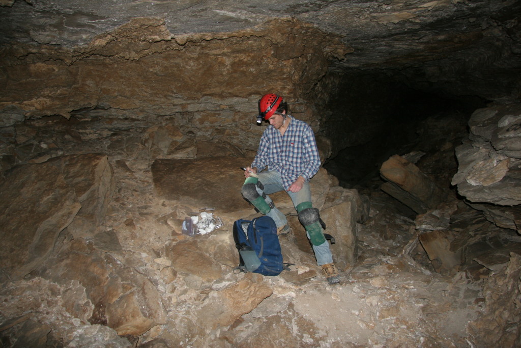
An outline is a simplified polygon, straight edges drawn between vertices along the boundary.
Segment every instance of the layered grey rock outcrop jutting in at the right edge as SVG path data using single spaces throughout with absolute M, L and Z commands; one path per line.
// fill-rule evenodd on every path
M 469 140 L 456 148 L 452 184 L 469 201 L 521 203 L 521 104 L 491 106 L 473 113 Z

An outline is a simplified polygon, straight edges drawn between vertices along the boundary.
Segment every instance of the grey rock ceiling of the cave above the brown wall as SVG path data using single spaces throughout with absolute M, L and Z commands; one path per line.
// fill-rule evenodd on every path
M 516 0 L 0 0 L 0 44 L 88 45 L 133 18 L 158 18 L 171 38 L 250 30 L 272 19 L 340 38 L 334 71 L 382 70 L 417 88 L 519 100 Z

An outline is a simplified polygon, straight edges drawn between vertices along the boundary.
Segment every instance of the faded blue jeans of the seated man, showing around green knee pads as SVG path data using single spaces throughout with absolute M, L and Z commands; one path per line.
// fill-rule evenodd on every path
M 286 191 L 284 189 L 284 186 L 282 186 L 282 177 L 280 176 L 279 172 L 265 171 L 259 173 L 258 177 L 259 182 L 261 182 L 264 185 L 264 193 L 266 195 L 273 194 L 282 190 Z M 309 183 L 307 181 L 304 182 L 304 186 L 302 186 L 302 189 L 300 191 L 286 191 L 286 193 L 290 196 L 294 207 L 298 206 L 302 202 L 311 202 L 311 188 L 309 187 Z M 269 198 L 268 196 L 266 201 L 270 203 L 271 198 Z M 282 212 L 278 210 L 276 207 L 272 208 L 266 215 L 275 221 L 277 227 L 284 226 L 288 223 L 286 215 L 282 214 Z M 307 232 L 306 235 L 309 239 L 309 234 Z M 326 265 L 326 263 L 333 262 L 333 257 L 331 255 L 331 250 L 329 250 L 329 243 L 327 241 L 320 245 L 313 245 L 313 252 L 315 253 L 315 258 L 317 259 L 318 266 Z

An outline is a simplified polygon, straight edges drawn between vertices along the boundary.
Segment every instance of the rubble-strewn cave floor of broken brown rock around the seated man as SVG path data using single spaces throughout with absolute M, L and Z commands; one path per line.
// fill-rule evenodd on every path
M 96 143 L 108 155 L 22 164 L 3 178 L 3 190 L 16 190 L 11 175 L 27 171 L 34 173 L 33 182 L 56 190 L 56 177 L 62 177 L 64 192 L 74 187 L 70 197 L 78 207 L 70 213 L 72 222 L 54 227 L 57 236 L 40 262 L 22 266 L 3 260 L 3 340 L 115 347 L 487 346 L 518 340 L 515 330 L 502 329 L 518 316 L 517 307 L 504 308 L 518 301 L 519 238 L 498 230 L 475 203 L 447 200 L 417 215 L 383 192 L 341 188 L 321 169 L 312 179 L 313 201 L 336 237 L 331 248 L 341 284 L 327 285 L 319 273 L 286 195 L 273 198 L 292 226 L 281 245 L 284 260 L 295 266 L 273 278 L 234 274 L 232 222 L 255 216 L 238 196 L 242 172 L 236 167 L 251 158 L 152 162 L 146 156 L 123 158 L 102 139 Z M 45 171 L 48 166 L 60 170 Z M 90 192 L 97 201 L 85 199 Z M 41 196 L 24 197 L 26 207 L 41 205 Z M 69 205 L 52 202 L 54 209 Z M 81 215 L 82 205 L 106 215 Z M 225 226 L 183 235 L 184 217 L 208 205 Z M 46 210 L 47 220 L 52 211 Z M 23 216 L 27 238 L 38 229 L 37 215 Z M 76 219 L 89 229 L 76 233 L 69 227 Z M 30 247 L 16 244 L 21 251 Z M 498 287 L 502 296 L 494 295 Z M 486 318 L 498 315 L 503 321 L 487 326 Z

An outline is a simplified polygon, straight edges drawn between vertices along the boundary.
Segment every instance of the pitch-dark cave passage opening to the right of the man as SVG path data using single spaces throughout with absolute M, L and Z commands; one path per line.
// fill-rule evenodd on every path
M 453 150 L 467 134 L 470 115 L 488 103 L 477 96 L 419 90 L 412 85 L 380 71 L 343 73 L 321 125 L 333 148 L 324 167 L 342 186 L 368 185 L 393 154 L 433 155 L 448 146 Z M 443 163 L 438 168 L 445 167 L 445 172 L 430 174 L 445 178 L 451 174 L 446 173 L 448 164 L 455 174 L 453 155 L 451 159 L 452 165 Z

